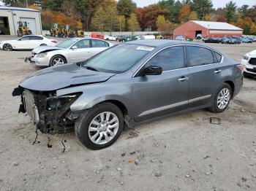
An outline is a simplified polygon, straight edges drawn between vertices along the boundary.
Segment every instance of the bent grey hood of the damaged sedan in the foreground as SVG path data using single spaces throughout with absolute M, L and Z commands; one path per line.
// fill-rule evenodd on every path
M 29 90 L 52 91 L 70 85 L 105 82 L 115 74 L 91 71 L 76 63 L 64 64 L 42 69 L 20 82 L 20 86 Z

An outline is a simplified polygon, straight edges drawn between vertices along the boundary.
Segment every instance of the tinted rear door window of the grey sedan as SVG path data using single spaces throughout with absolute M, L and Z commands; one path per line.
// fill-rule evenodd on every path
M 211 50 L 204 47 L 187 47 L 190 66 L 200 66 L 214 63 L 214 56 Z

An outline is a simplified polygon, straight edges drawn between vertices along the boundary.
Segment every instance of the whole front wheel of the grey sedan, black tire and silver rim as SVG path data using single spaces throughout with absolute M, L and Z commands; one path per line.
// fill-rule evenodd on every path
M 89 149 L 110 147 L 124 128 L 124 115 L 111 103 L 98 104 L 87 109 L 75 122 L 75 134 Z

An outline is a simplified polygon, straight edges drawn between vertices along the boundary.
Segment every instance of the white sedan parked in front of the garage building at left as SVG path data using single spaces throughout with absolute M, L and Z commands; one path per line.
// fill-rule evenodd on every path
M 39 46 L 55 46 L 55 39 L 47 39 L 41 35 L 26 35 L 16 40 L 7 40 L 0 42 L 0 49 L 12 50 L 32 50 Z

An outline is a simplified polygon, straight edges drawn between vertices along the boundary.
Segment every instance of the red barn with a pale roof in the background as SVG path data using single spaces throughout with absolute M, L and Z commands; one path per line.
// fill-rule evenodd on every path
M 242 36 L 243 29 L 229 23 L 189 20 L 173 31 L 173 38 L 183 35 L 195 39 L 198 34 L 203 37 Z

